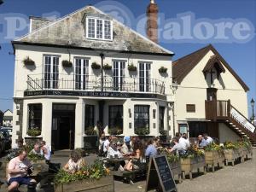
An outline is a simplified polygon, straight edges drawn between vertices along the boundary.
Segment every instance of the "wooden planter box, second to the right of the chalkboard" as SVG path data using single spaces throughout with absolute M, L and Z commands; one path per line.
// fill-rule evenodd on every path
M 204 156 L 195 157 L 193 159 L 181 158 L 181 169 L 183 172 L 183 178 L 186 176 L 186 173 L 189 173 L 189 178 L 192 179 L 192 172 L 197 171 L 200 172 L 200 169 L 203 170 L 203 173 L 206 173 L 206 160 Z

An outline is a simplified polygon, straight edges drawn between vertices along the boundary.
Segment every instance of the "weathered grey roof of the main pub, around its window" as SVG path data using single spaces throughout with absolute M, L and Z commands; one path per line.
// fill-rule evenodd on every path
M 156 55 L 174 55 L 159 44 L 155 44 L 143 35 L 113 20 L 113 41 L 90 40 L 85 38 L 84 15 L 106 15 L 93 6 L 86 6 L 72 14 L 16 38 L 12 44 L 34 44 L 40 46 L 58 46 L 81 49 L 108 49 L 113 51 L 136 52 Z

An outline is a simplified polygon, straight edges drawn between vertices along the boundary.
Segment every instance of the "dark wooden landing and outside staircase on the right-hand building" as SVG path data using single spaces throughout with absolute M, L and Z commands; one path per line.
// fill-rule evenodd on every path
M 256 127 L 228 101 L 206 101 L 206 119 L 224 122 L 240 137 L 256 144 Z

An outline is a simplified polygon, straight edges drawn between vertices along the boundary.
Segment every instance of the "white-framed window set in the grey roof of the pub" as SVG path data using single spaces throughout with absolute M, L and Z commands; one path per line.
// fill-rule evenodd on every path
M 113 21 L 102 18 L 86 18 L 86 38 L 112 41 Z

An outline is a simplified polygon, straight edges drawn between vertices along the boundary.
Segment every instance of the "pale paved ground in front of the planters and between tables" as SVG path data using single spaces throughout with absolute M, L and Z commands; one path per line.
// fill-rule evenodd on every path
M 67 162 L 68 151 L 55 153 L 54 162 L 61 162 L 63 166 Z M 89 163 L 96 159 L 96 155 L 85 157 Z M 3 169 L 0 170 L 3 177 Z M 225 166 L 224 169 L 206 175 L 193 175 L 194 179 L 186 179 L 177 184 L 178 192 L 255 192 L 256 191 L 256 149 L 253 149 L 253 160 L 247 160 L 236 166 Z M 115 192 L 144 192 L 146 181 L 140 181 L 134 185 L 119 181 L 114 182 Z M 0 191 L 2 191 L 0 189 Z

